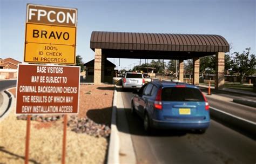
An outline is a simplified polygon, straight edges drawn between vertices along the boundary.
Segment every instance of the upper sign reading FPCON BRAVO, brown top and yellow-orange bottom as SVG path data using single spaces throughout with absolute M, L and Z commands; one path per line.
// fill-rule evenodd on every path
M 28 4 L 24 61 L 76 64 L 77 10 Z

